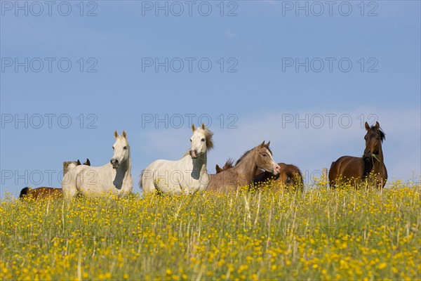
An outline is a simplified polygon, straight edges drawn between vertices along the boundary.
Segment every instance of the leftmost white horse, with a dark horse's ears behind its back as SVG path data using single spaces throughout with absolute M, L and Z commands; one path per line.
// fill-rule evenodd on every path
M 114 155 L 109 163 L 99 167 L 80 165 L 65 174 L 62 181 L 65 199 L 74 198 L 78 193 L 86 197 L 110 194 L 124 197 L 131 193 L 133 178 L 126 131 L 121 136 L 114 131 L 114 137 Z

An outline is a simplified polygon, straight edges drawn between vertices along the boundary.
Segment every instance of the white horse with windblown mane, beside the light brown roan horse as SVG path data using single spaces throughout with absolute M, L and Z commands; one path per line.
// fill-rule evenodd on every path
M 213 133 L 202 124 L 192 125 L 190 150 L 178 161 L 156 160 L 140 175 L 139 186 L 144 193 L 163 192 L 172 194 L 206 190 L 209 182 L 206 155 L 213 148 Z

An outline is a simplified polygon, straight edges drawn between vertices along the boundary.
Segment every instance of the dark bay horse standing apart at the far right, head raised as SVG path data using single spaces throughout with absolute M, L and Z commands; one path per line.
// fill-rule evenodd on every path
M 366 148 L 363 157 L 342 156 L 332 162 L 329 170 L 329 184 L 331 188 L 340 183 L 350 182 L 354 186 L 361 184 L 369 176 L 374 176 L 375 185 L 383 188 L 387 181 L 387 170 L 383 162 L 382 142 L 385 133 L 379 122 L 369 126 L 366 122 Z

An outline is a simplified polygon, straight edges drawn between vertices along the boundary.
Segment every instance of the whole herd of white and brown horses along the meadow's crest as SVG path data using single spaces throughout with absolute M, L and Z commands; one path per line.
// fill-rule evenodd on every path
M 376 122 L 374 126 L 365 123 L 366 147 L 362 157 L 342 156 L 332 163 L 329 170 L 330 188 L 342 183 L 355 187 L 365 181 L 383 188 L 387 181 L 387 170 L 383 161 L 382 142 L 385 133 Z M 202 124 L 199 128 L 192 125 L 190 149 L 177 160 L 159 159 L 147 166 L 140 174 L 139 186 L 143 194 L 168 193 L 189 194 L 194 192 L 236 192 L 240 187 L 250 189 L 282 188 L 304 190 L 300 169 L 293 164 L 276 163 L 269 148 L 270 141 L 245 152 L 234 164 L 228 159 L 216 174 L 208 174 L 206 163 L 208 151 L 213 148 L 213 133 Z M 117 195 L 125 197 L 132 192 L 131 152 L 126 131 L 119 135 L 114 132 L 116 141 L 114 154 L 103 166 L 91 166 L 89 159 L 83 164 L 78 160 L 63 177 L 62 188 L 24 188 L 20 197 L 64 197 L 72 199 L 78 195 L 98 197 Z

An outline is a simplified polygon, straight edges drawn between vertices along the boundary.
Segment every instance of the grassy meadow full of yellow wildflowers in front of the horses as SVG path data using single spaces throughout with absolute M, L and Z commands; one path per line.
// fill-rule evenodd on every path
M 420 279 L 421 188 L 1 201 L 1 280 Z

